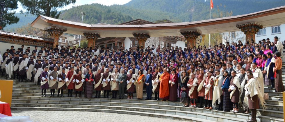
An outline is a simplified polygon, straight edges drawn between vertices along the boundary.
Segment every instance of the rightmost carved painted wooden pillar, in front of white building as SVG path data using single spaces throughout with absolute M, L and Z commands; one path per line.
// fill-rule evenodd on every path
M 259 31 L 259 29 L 263 28 L 262 25 L 255 22 L 237 25 L 236 27 L 238 29 L 241 29 L 241 31 L 245 34 L 246 41 L 250 41 L 251 39 L 253 39 L 254 43 L 255 43 L 255 34 Z

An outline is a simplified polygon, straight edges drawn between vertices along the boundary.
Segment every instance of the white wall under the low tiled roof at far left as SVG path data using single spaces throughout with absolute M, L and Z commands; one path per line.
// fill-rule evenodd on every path
M 22 48 L 21 46 L 22 45 L 19 45 L 19 44 L 12 44 L 12 43 L 5 43 L 5 42 L 0 42 L 0 51 L 1 51 L 1 54 L 3 55 L 4 52 L 6 52 L 7 49 L 11 49 L 11 46 L 14 46 L 14 49 L 16 51 L 18 51 L 18 48 Z M 25 50 L 30 47 L 30 50 L 33 51 L 35 50 L 35 46 L 32 46 L 32 45 L 24 45 L 24 52 Z M 38 47 L 38 50 L 40 49 L 41 47 Z

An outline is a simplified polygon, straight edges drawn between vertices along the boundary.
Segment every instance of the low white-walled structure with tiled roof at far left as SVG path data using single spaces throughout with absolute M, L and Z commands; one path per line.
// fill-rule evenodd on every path
M 21 48 L 24 45 L 24 49 L 30 47 L 30 50 L 34 50 L 35 46 L 38 46 L 38 50 L 41 47 L 47 46 L 52 47 L 54 39 L 36 37 L 31 35 L 25 35 L 15 32 L 8 32 L 0 30 L 0 51 L 1 54 L 6 52 L 7 49 L 10 50 L 10 47 L 13 45 L 14 49 L 17 51 L 18 48 Z

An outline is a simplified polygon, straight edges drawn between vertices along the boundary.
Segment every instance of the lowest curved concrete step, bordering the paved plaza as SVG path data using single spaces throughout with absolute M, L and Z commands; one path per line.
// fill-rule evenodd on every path
M 149 113 L 149 112 L 141 112 L 141 111 L 128 111 L 128 110 L 108 110 L 108 109 L 81 109 L 81 108 L 40 108 L 40 107 L 11 107 L 12 110 L 56 110 L 56 111 L 90 111 L 90 112 L 109 112 L 109 113 L 118 113 L 118 114 L 132 114 L 132 115 L 140 115 L 140 116 L 151 116 L 151 117 L 159 117 L 164 119 L 174 119 L 181 121 L 193 121 L 193 122 L 215 122 L 201 118 L 195 118 L 188 116 L 178 116 L 172 114 L 158 114 L 158 113 Z M 210 118 L 209 118 L 210 119 Z

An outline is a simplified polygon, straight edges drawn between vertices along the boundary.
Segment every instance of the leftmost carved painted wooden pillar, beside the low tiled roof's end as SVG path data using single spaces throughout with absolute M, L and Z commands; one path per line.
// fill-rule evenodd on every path
M 58 45 L 59 37 L 63 34 L 63 32 L 66 31 L 66 29 L 64 28 L 57 28 L 57 27 L 52 27 L 52 26 L 44 28 L 44 30 L 47 31 L 49 35 L 54 38 L 54 44 L 52 46 L 53 48 L 56 48 L 56 45 Z

